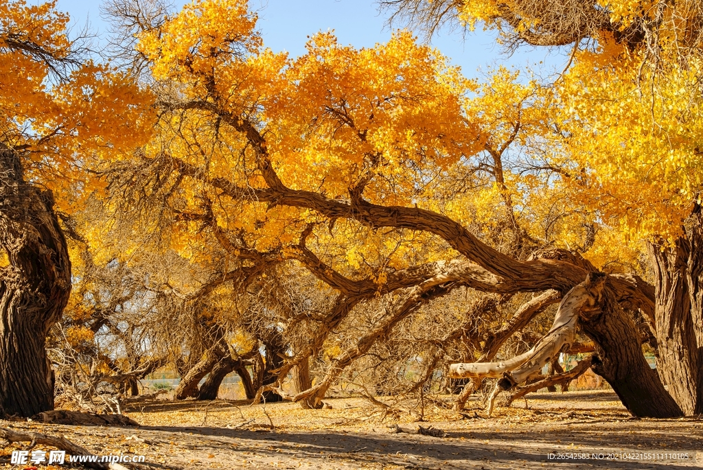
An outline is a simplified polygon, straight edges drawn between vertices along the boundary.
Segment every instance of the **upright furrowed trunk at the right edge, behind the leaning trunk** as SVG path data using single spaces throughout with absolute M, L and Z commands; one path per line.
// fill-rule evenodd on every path
M 673 247 L 650 244 L 657 370 L 681 410 L 703 413 L 703 220 L 696 206 Z

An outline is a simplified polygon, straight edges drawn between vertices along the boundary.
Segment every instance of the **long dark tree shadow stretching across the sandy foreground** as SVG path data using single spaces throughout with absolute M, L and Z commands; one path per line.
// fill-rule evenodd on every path
M 257 432 L 249 430 L 220 429 L 213 427 L 143 426 L 142 431 L 155 433 L 193 433 L 207 439 L 197 444 L 198 450 L 210 448 L 215 452 L 223 447 L 231 448 L 236 443 L 237 452 L 256 452 L 259 457 L 295 457 L 332 464 L 335 459 L 383 464 L 405 464 L 406 468 L 478 468 L 477 464 L 491 468 L 513 468 L 520 463 L 529 468 L 546 462 L 569 466 L 574 462 L 554 462 L 548 459 L 548 452 L 606 452 L 604 448 L 632 448 L 632 437 L 622 435 L 603 436 L 604 430 L 591 429 L 540 432 L 527 436 L 523 432 L 449 432 L 448 438 L 432 438 L 411 434 L 391 433 L 344 433 L 321 431 Z M 677 436 L 681 438 L 682 436 Z M 661 449 L 659 443 L 664 436 L 652 436 L 642 440 L 643 448 Z M 536 448 L 521 445 L 526 440 L 538 444 Z M 582 450 L 567 450 L 567 443 Z M 690 436 L 678 443 L 679 449 L 695 449 L 699 440 Z M 203 447 L 205 446 L 205 447 Z M 593 450 L 591 450 L 593 449 Z M 671 448 L 669 448 L 671 449 Z M 671 450 L 669 450 L 671 451 Z M 643 450 L 644 452 L 644 450 Z M 658 462 L 612 462 L 589 460 L 588 464 L 608 469 L 665 469 L 670 464 Z M 507 466 L 505 466 L 507 465 Z M 517 468 L 517 466 L 515 467 Z

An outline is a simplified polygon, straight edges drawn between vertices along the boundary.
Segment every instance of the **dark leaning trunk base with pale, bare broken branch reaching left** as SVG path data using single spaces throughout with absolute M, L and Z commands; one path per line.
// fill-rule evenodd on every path
M 550 332 L 534 348 L 501 363 L 453 364 L 453 377 L 502 377 L 489 400 L 539 372 L 574 338 L 576 319 L 596 344 L 593 370 L 612 386 L 622 403 L 639 417 L 678 417 L 681 409 L 645 360 L 633 320 L 619 306 L 605 275 L 591 273 L 562 299 Z

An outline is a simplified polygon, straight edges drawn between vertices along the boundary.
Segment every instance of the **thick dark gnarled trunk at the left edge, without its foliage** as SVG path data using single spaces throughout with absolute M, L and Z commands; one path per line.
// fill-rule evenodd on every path
M 71 264 L 51 191 L 25 183 L 19 156 L 0 144 L 3 255 L 9 264 L 0 267 L 0 415 L 31 417 L 53 410 L 45 340 L 68 301 Z

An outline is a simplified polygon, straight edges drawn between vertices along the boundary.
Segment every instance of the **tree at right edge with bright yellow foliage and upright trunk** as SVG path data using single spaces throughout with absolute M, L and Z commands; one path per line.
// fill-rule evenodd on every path
M 646 240 L 654 270 L 657 370 L 686 414 L 703 410 L 700 216 L 701 6 L 695 1 L 384 1 L 432 32 L 497 28 L 509 46 L 569 46 L 555 97 L 575 197 L 623 237 Z M 605 105 L 605 103 L 608 103 Z

